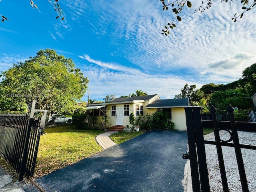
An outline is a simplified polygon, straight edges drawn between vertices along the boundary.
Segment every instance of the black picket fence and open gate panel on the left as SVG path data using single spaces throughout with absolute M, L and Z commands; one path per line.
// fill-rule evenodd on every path
M 0 157 L 4 158 L 23 177 L 33 176 L 40 135 L 44 128 L 46 111 L 30 114 L 0 114 Z

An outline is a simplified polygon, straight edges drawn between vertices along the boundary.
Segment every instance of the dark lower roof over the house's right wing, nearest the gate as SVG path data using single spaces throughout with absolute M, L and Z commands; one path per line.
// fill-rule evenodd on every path
M 146 108 L 173 108 L 189 106 L 188 98 L 154 100 Z

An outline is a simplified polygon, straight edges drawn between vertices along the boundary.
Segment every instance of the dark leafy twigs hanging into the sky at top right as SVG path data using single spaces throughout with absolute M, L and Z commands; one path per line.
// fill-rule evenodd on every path
M 170 28 L 173 29 L 176 27 L 174 22 L 176 20 L 178 21 L 182 20 L 182 18 L 180 17 L 181 11 L 185 7 L 191 8 L 192 3 L 188 0 L 173 0 L 173 2 L 171 3 L 170 3 L 170 0 L 167 0 L 167 3 L 165 2 L 165 0 L 160 0 L 160 2 L 162 2 L 163 4 L 162 6 L 163 10 L 168 10 L 168 6 L 172 6 L 172 12 L 174 12 L 174 14 L 176 15 L 172 20 L 172 22 L 169 22 L 166 26 L 164 26 L 164 29 L 162 30 L 162 34 L 165 34 L 167 36 L 168 34 L 170 34 L 169 32 Z M 199 6 L 194 12 L 199 11 L 200 13 L 202 13 L 205 10 L 208 10 L 211 7 L 213 2 L 214 2 L 213 0 L 203 0 L 202 5 Z M 230 2 L 230 10 L 231 10 L 232 3 L 234 3 L 233 0 L 221 0 L 221 2 L 225 2 L 225 3 Z M 238 18 L 242 18 L 247 11 L 251 10 L 256 5 L 255 0 L 250 0 L 250 2 L 249 0 L 241 0 L 240 3 L 242 4 L 243 11 L 240 14 L 234 14 L 234 17 L 232 18 L 234 22 L 236 22 Z

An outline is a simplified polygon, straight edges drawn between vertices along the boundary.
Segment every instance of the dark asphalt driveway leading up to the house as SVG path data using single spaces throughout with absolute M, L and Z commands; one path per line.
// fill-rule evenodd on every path
M 183 192 L 186 151 L 186 132 L 150 131 L 34 181 L 47 192 Z

